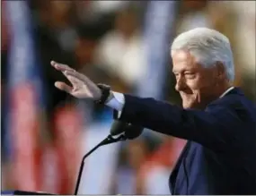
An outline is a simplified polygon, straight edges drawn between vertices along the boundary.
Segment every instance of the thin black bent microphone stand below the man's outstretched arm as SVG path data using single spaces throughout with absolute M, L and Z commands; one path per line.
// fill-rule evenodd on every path
M 126 141 L 128 138 L 125 136 L 125 134 L 119 135 L 118 138 L 113 138 L 111 135 L 109 135 L 107 138 L 105 138 L 103 141 L 101 141 L 97 146 L 95 146 L 93 149 L 91 149 L 89 152 L 87 152 L 81 162 L 80 169 L 79 169 L 79 174 L 77 176 L 76 184 L 75 184 L 75 195 L 77 195 L 79 184 L 81 181 L 83 169 L 84 169 L 84 160 L 87 158 L 89 155 L 93 153 L 94 150 L 98 149 L 101 146 L 104 146 L 106 144 L 114 143 L 117 141 Z

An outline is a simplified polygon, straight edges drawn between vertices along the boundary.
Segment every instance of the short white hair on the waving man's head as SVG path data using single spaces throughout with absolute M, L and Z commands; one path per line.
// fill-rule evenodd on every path
M 216 30 L 196 28 L 183 32 L 174 39 L 171 50 L 189 51 L 204 67 L 221 62 L 227 79 L 234 81 L 234 58 L 229 39 Z

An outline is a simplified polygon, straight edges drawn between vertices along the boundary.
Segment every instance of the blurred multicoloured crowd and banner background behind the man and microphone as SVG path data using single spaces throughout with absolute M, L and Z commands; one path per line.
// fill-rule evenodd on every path
M 255 1 L 2 1 L 1 190 L 72 194 L 83 154 L 104 139 L 111 110 L 71 98 L 55 60 L 95 82 L 180 105 L 172 39 L 209 27 L 230 38 L 235 85 L 256 101 Z M 67 81 L 66 81 L 67 82 Z M 169 194 L 186 141 L 146 130 L 86 159 L 79 193 Z

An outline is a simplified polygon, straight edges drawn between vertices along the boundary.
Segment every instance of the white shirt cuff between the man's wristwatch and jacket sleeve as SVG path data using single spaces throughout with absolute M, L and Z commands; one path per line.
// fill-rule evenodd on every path
M 111 98 L 110 101 L 106 103 L 106 106 L 117 110 L 119 112 L 118 117 L 120 117 L 123 107 L 125 105 L 125 96 L 124 94 L 119 92 L 112 92 L 112 94 L 113 98 Z

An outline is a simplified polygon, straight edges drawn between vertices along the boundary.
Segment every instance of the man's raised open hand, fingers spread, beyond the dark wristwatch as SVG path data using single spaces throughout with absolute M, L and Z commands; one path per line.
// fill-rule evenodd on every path
M 89 98 L 92 100 L 101 98 L 101 89 L 84 74 L 76 72 L 66 64 L 58 64 L 54 61 L 51 61 L 50 64 L 57 69 L 57 71 L 62 72 L 72 84 L 72 86 L 69 86 L 63 81 L 56 81 L 55 86 L 57 89 L 64 90 L 75 98 Z

